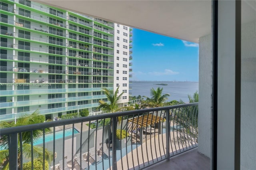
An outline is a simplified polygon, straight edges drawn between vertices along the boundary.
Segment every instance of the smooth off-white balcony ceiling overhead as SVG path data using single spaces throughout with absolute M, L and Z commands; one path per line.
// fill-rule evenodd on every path
M 190 42 L 198 43 L 200 37 L 211 33 L 212 2 L 210 0 L 42 0 L 40 2 Z M 249 6 L 255 6 L 255 3 Z

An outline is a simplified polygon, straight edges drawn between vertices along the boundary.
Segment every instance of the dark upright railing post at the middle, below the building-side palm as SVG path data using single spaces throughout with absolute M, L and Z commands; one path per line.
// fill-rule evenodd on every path
M 112 118 L 112 170 L 117 170 L 116 162 L 116 127 L 117 127 L 117 117 Z

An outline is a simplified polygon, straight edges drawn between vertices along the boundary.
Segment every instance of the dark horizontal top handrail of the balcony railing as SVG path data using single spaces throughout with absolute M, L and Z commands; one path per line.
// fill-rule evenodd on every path
M 180 107 L 188 107 L 188 106 L 195 106 L 195 105 L 198 105 L 198 103 L 188 103 L 188 104 L 173 105 L 173 106 L 167 106 L 167 107 L 156 107 L 156 108 L 150 108 L 150 109 L 139 109 L 134 111 L 116 112 L 111 114 L 94 115 L 94 116 L 88 116 L 88 117 L 38 123 L 38 124 L 19 126 L 19 127 L 10 127 L 10 128 L 0 129 L 0 134 L 2 136 L 2 135 L 15 134 L 18 132 L 25 132 L 30 130 L 69 125 L 73 123 L 82 123 L 87 121 L 95 121 L 98 119 L 106 119 L 106 118 L 113 118 L 113 117 L 119 117 L 119 116 L 138 115 L 138 114 L 147 113 L 147 112 L 176 109 Z

